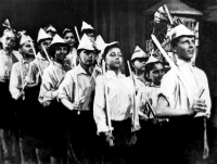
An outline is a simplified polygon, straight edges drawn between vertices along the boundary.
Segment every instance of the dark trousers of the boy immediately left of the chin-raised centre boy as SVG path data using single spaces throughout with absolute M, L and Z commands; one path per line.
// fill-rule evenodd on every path
M 97 126 L 92 111 L 68 111 L 68 146 L 71 153 L 74 153 L 73 161 L 80 163 L 95 163 L 97 156 Z M 72 153 L 73 151 L 73 153 Z M 76 160 L 75 160 L 76 159 Z

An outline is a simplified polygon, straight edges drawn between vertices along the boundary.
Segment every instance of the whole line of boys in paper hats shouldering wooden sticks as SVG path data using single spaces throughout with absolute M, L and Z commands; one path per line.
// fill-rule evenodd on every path
M 17 148 L 22 164 L 190 162 L 186 152 L 203 140 L 202 121 L 210 115 L 207 77 L 192 61 L 190 29 L 174 27 L 170 40 L 175 64 L 193 92 L 138 46 L 130 60 L 135 73 L 126 77 L 120 45 L 105 43 L 85 22 L 77 49 L 74 30 L 65 28 L 62 38 L 51 25 L 40 28 L 37 54 L 24 31 L 20 52 L 13 50 L 16 35 L 8 24 L 0 50 L 4 163 L 17 163 Z

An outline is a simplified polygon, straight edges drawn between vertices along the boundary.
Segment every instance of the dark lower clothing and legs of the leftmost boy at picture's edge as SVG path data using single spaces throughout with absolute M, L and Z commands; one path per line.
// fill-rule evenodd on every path
M 16 106 L 9 91 L 9 80 L 0 83 L 0 139 L 4 160 L 16 156 L 17 148 L 17 123 Z

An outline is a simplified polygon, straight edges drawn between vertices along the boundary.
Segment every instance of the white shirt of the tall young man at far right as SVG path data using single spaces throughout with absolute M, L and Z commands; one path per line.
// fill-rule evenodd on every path
M 159 94 L 163 94 L 166 98 L 170 109 L 189 109 L 192 106 L 193 100 L 197 99 L 197 92 L 203 87 L 205 91 L 201 99 L 205 100 L 207 113 L 209 113 L 210 96 L 205 73 L 202 70 L 193 66 L 191 62 L 187 63 L 186 61 L 179 59 L 177 59 L 177 66 L 188 85 L 192 88 L 193 92 L 191 92 L 191 94 L 189 94 L 190 97 L 188 98 L 178 76 L 173 70 L 170 70 L 162 79 Z

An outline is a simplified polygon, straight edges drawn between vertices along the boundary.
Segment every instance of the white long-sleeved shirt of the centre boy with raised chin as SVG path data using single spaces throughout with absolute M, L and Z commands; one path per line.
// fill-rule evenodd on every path
M 106 86 L 110 103 L 111 121 L 125 121 L 131 117 L 133 83 L 123 74 L 116 75 L 113 71 L 106 72 Z M 106 125 L 105 88 L 103 75 L 95 80 L 95 97 L 93 116 L 98 127 L 98 134 L 108 131 Z

